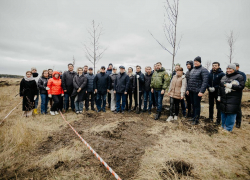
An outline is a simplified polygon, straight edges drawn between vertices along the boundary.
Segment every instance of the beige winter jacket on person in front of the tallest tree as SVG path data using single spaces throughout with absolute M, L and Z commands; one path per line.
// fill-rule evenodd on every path
M 187 79 L 185 75 L 177 76 L 174 75 L 168 92 L 170 93 L 170 97 L 175 99 L 181 99 L 181 97 L 185 97 L 187 88 Z

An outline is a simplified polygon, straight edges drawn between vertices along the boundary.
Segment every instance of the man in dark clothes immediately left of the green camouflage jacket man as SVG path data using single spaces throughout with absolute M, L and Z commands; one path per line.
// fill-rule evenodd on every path
M 146 112 L 148 110 L 148 113 L 151 114 L 151 108 L 152 108 L 152 104 L 153 104 L 153 98 L 152 98 L 152 92 L 151 92 L 151 78 L 152 78 L 152 69 L 150 66 L 146 67 L 146 74 L 144 76 L 145 78 L 145 84 L 144 84 L 144 108 L 142 112 Z M 149 102 L 149 105 L 148 105 Z M 147 109 L 147 105 L 148 105 L 148 109 Z

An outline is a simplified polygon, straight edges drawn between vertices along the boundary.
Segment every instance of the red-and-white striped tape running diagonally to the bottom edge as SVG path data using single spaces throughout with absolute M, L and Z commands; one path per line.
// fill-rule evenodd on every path
M 62 118 L 64 119 L 64 121 L 70 126 L 70 128 L 76 133 L 76 135 L 82 140 L 82 142 L 89 148 L 89 150 L 96 156 L 96 158 L 99 159 L 99 161 L 109 170 L 109 172 L 117 180 L 121 180 L 121 178 L 115 173 L 115 171 L 113 171 L 113 169 L 111 167 L 109 167 L 109 165 L 99 156 L 99 154 L 97 154 L 95 152 L 95 150 L 82 138 L 82 136 L 80 134 L 78 134 L 78 132 L 70 125 L 70 123 L 62 115 L 61 111 L 60 111 L 60 114 L 61 114 Z

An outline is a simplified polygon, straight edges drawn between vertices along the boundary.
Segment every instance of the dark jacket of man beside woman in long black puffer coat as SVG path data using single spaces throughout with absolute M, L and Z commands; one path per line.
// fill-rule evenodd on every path
M 225 76 L 225 73 L 221 70 L 221 68 L 219 68 L 216 72 L 213 72 L 213 70 L 211 70 L 208 78 L 208 88 L 214 87 L 215 89 L 218 89 L 220 80 L 223 76 Z

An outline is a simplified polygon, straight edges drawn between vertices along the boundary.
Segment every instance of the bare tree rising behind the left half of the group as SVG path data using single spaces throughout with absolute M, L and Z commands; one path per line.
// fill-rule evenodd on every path
M 94 65 L 94 74 L 96 64 L 102 58 L 103 53 L 107 50 L 107 48 L 102 49 L 100 46 L 100 36 L 103 34 L 103 28 L 98 23 L 95 24 L 95 21 L 92 21 L 92 27 L 87 29 L 89 33 L 89 44 L 84 44 L 84 51 L 86 58 Z

